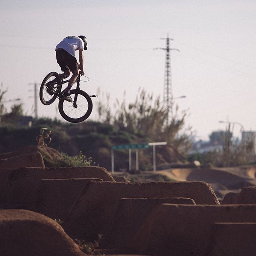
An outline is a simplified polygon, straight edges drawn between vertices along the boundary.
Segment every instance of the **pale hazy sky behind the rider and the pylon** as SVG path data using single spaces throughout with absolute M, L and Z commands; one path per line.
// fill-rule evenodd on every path
M 81 88 L 98 101 L 134 102 L 139 87 L 163 98 L 165 47 L 171 51 L 172 92 L 186 125 L 207 139 L 224 130 L 219 120 L 256 130 L 255 0 L 0 0 L 0 82 L 5 100 L 21 98 L 34 111 L 34 86 L 51 71 L 60 72 L 55 46 L 68 35 L 85 35 L 85 74 Z M 39 90 L 39 85 L 38 85 Z M 58 102 L 41 104 L 38 116 L 57 117 Z M 6 102 L 6 107 L 11 106 Z M 240 126 L 234 126 L 239 135 Z

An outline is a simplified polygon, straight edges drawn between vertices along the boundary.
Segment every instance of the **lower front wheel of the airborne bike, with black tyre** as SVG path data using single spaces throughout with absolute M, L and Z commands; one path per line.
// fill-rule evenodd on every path
M 76 90 L 70 91 L 70 97 L 74 101 Z M 59 100 L 59 113 L 61 116 L 71 122 L 79 123 L 87 119 L 93 109 L 93 102 L 91 101 L 90 96 L 85 92 L 79 90 L 77 92 L 76 104 L 74 102 L 68 102 L 64 99 Z

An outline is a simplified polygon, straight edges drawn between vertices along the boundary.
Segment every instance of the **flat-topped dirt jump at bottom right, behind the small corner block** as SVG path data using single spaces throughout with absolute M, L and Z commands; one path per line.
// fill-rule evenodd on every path
M 153 256 L 206 256 L 215 222 L 256 222 L 256 204 L 161 204 L 151 212 L 129 247 L 133 252 Z

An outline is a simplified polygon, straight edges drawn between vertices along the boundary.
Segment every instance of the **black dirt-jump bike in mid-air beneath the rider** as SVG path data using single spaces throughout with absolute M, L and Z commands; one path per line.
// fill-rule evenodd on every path
M 62 91 L 62 85 L 69 82 L 60 79 L 59 74 L 50 72 L 43 80 L 40 87 L 40 101 L 44 105 L 52 104 L 56 98 L 59 99 L 58 109 L 61 116 L 72 123 L 79 123 L 87 119 L 93 109 L 91 97 L 97 95 L 88 95 L 80 89 L 81 75 L 76 79 L 76 89 L 70 90 L 72 102 L 63 99 L 66 89 Z

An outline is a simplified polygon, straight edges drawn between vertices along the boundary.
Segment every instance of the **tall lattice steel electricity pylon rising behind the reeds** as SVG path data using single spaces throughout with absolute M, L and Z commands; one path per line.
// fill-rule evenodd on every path
M 172 112 L 172 105 L 173 105 L 173 95 L 172 95 L 172 75 L 171 75 L 171 50 L 179 49 L 169 48 L 169 41 L 173 40 L 169 38 L 169 34 L 167 34 L 166 38 L 160 38 L 161 40 L 166 40 L 166 48 L 158 47 L 154 49 L 161 49 L 166 51 L 166 58 L 165 58 L 165 79 L 164 79 L 164 88 L 163 88 L 163 101 L 166 107 L 166 122 L 169 123 L 169 116 L 171 113 L 171 118 L 173 116 Z

